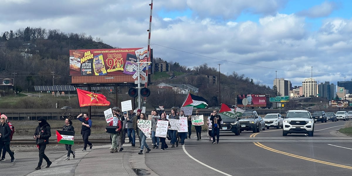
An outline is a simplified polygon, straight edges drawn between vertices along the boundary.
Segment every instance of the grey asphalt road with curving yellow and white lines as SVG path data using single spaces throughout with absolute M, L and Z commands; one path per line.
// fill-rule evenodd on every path
M 281 128 L 240 136 L 226 133 L 220 144 L 202 133 L 200 141 L 186 139 L 183 149 L 180 145 L 146 155 L 145 163 L 158 175 L 350 176 L 352 137 L 337 133 L 345 123 L 315 123 L 314 137 L 283 137 Z

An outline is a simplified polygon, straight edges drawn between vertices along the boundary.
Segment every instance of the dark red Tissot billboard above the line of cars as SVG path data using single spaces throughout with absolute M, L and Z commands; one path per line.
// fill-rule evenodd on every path
M 266 95 L 265 94 L 243 94 L 237 95 L 237 106 L 244 107 L 242 100 L 247 98 L 248 105 L 246 107 L 266 107 Z

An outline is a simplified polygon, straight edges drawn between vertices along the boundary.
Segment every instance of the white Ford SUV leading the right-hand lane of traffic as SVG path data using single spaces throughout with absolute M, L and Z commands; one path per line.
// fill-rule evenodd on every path
M 309 111 L 306 110 L 290 110 L 287 111 L 283 121 L 282 136 L 291 133 L 304 133 L 313 136 L 314 120 Z

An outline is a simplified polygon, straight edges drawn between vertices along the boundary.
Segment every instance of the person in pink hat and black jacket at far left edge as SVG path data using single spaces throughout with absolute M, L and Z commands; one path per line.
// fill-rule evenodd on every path
M 0 149 L 5 146 L 5 150 L 11 157 L 11 163 L 15 162 L 15 158 L 13 157 L 13 153 L 10 150 L 10 135 L 11 130 L 10 126 L 6 123 L 7 117 L 6 115 L 2 114 L 0 116 Z

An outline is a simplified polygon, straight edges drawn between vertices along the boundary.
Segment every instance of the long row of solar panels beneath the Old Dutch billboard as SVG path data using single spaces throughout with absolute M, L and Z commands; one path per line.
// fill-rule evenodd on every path
M 88 90 L 88 87 L 77 87 L 78 89 Z M 55 86 L 34 86 L 36 91 L 75 91 L 74 86 L 68 85 L 55 85 Z M 113 86 L 107 87 L 90 87 L 90 90 L 114 90 Z

